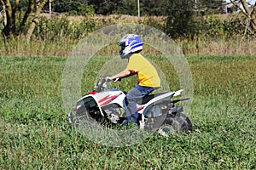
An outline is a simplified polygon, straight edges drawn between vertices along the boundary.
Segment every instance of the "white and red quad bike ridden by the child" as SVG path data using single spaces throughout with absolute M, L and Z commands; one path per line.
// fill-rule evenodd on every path
M 73 111 L 67 114 L 70 123 L 78 126 L 78 117 L 86 116 L 87 121 L 101 123 L 103 120 L 113 125 L 122 124 L 126 117 L 123 108 L 126 93 L 117 88 L 108 89 L 108 82 L 111 81 L 106 80 L 106 77 L 99 77 L 95 89 L 79 99 Z M 172 100 L 180 96 L 182 91 L 148 94 L 137 101 L 138 127 L 166 137 L 191 130 L 192 123 L 183 114 L 183 106 L 177 105 L 189 98 Z

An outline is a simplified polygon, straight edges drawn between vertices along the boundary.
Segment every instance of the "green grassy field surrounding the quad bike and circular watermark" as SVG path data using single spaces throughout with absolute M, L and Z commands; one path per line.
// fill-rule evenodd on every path
M 66 59 L 0 57 L 0 169 L 256 169 L 256 55 L 188 56 L 193 132 L 121 148 L 69 125 L 61 100 Z M 102 65 L 92 63 L 83 93 Z

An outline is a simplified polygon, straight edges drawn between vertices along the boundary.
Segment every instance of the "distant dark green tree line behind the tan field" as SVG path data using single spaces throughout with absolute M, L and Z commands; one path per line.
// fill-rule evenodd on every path
M 83 14 L 81 8 L 90 8 L 95 14 L 137 15 L 138 3 L 141 15 L 167 16 L 173 4 L 205 14 L 224 12 L 223 0 L 58 0 L 52 3 L 52 7 L 58 13 Z

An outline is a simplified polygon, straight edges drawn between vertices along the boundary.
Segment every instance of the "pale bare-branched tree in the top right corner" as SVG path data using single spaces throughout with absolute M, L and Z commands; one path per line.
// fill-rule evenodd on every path
M 255 32 L 256 31 L 256 13 L 255 13 L 256 2 L 254 4 L 247 3 L 246 0 L 231 0 L 230 2 L 233 3 L 233 5 L 236 6 L 236 8 L 239 8 L 241 11 L 241 14 L 243 14 L 246 17 L 245 34 L 247 33 L 247 30 L 250 27 L 253 28 L 253 31 Z

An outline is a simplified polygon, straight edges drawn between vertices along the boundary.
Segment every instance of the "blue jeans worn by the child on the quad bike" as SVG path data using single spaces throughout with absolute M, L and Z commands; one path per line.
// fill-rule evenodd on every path
M 137 102 L 139 100 L 142 100 L 144 96 L 150 94 L 154 88 L 151 87 L 144 87 L 137 85 L 131 91 L 129 91 L 124 100 L 124 109 L 127 118 L 123 122 L 123 124 L 126 124 L 130 120 L 133 122 L 137 123 L 137 117 L 138 117 L 138 112 L 137 112 Z

